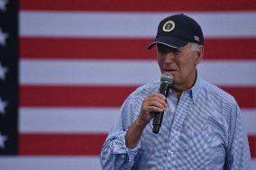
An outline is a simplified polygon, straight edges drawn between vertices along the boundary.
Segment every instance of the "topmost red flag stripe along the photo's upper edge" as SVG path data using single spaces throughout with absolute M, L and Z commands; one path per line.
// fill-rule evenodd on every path
M 56 10 L 56 11 L 233 11 L 255 10 L 253 0 L 21 0 L 22 10 Z

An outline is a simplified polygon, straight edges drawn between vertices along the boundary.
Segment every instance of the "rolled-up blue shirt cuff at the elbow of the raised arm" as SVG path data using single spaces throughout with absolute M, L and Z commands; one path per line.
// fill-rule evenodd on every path
M 137 156 L 138 150 L 141 148 L 141 141 L 139 141 L 138 145 L 135 148 L 127 148 L 125 145 L 126 133 L 127 130 L 123 131 L 115 140 L 113 153 L 127 155 L 129 162 L 131 162 Z

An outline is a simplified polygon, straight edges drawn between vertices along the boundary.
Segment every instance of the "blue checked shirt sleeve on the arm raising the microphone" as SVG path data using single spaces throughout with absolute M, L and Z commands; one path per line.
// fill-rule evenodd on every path
M 125 135 L 135 119 L 134 115 L 137 115 L 133 105 L 133 97 L 130 96 L 123 103 L 119 119 L 105 140 L 100 157 L 103 170 L 125 170 L 133 167 L 138 149 L 141 148 L 141 143 L 133 149 L 127 148 L 125 145 Z

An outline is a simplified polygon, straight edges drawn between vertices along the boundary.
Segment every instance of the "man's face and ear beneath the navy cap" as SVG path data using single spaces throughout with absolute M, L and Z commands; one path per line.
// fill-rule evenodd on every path
M 172 86 L 177 90 L 185 90 L 194 85 L 196 67 L 203 57 L 203 47 L 199 51 L 192 49 L 187 43 L 181 49 L 173 49 L 157 44 L 157 57 L 161 72 L 169 72 L 173 76 Z

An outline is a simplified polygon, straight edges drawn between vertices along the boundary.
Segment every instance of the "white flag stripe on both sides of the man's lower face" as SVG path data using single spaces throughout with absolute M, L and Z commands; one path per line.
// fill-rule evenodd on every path
M 142 85 L 160 77 L 157 61 L 22 59 L 22 85 Z M 215 85 L 256 85 L 256 60 L 199 64 L 198 73 Z

